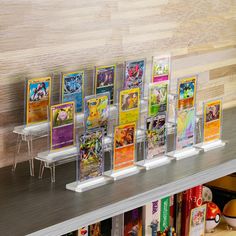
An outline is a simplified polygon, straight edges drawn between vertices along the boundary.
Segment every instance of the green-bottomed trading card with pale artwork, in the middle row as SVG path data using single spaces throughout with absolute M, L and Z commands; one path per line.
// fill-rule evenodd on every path
M 168 83 L 153 83 L 149 87 L 149 116 L 167 111 Z

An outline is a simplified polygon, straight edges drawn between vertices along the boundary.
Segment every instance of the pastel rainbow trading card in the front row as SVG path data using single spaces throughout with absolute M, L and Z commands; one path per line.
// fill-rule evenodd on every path
M 190 147 L 195 138 L 195 108 L 177 112 L 176 149 Z

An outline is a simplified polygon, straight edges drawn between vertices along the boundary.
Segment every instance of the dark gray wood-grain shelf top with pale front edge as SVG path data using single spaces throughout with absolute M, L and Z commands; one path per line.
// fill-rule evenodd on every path
M 0 235 L 62 235 L 236 171 L 236 109 L 224 111 L 224 148 L 137 174 L 84 193 L 65 189 L 75 163 L 58 166 L 57 182 L 0 169 Z M 36 173 L 37 174 L 37 173 Z

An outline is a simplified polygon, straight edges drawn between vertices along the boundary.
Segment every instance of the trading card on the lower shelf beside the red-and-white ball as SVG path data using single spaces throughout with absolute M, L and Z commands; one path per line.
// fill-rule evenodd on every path
M 189 236 L 204 236 L 206 224 L 206 204 L 191 210 Z

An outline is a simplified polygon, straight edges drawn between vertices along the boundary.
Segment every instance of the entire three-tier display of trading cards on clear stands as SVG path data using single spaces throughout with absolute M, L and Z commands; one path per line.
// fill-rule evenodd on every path
M 14 133 L 17 153 L 22 141 L 27 142 L 31 175 L 33 140 L 45 136 L 50 140 L 48 151 L 35 157 L 41 163 L 39 177 L 49 168 L 55 182 L 56 166 L 76 160 L 76 181 L 67 188 L 79 192 L 224 146 L 222 99 L 204 102 L 202 119 L 197 119 L 197 76 L 179 78 L 177 93 L 170 94 L 170 60 L 161 61 L 156 63 L 146 98 L 145 60 L 125 65 L 120 90 L 115 65 L 96 68 L 94 95 L 85 96 L 84 102 L 84 71 L 62 76 L 62 103 L 52 106 L 51 77 L 27 81 L 26 126 L 15 127 Z M 84 113 L 78 114 L 82 109 Z M 171 133 L 174 142 L 169 144 Z M 105 152 L 110 159 L 106 171 Z M 17 156 L 13 170 L 16 164 Z

